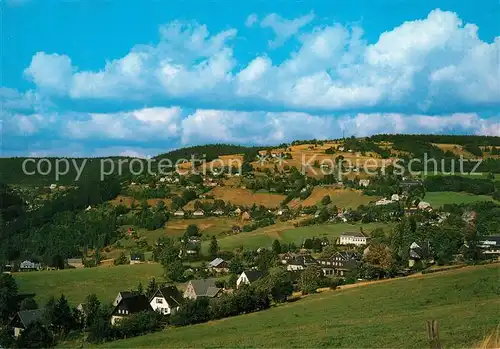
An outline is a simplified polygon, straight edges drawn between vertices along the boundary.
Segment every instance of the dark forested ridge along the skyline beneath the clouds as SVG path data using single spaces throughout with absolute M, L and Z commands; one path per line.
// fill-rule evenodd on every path
M 272 148 L 286 148 L 299 144 L 322 144 L 329 142 L 328 140 L 297 140 L 289 144 L 280 144 L 275 147 L 267 146 L 243 146 L 233 144 L 208 144 L 198 145 L 186 148 L 176 149 L 164 154 L 159 154 L 153 160 L 169 159 L 175 164 L 180 159 L 191 160 L 193 157 L 198 160 L 205 160 L 207 162 L 216 159 L 219 156 L 242 154 L 246 161 L 253 161 L 259 150 L 266 150 Z M 330 140 L 331 142 L 331 140 Z M 402 135 L 402 134 L 381 134 L 366 138 L 346 138 L 335 140 L 336 144 L 343 144 L 345 148 L 354 152 L 372 152 L 379 154 L 382 158 L 400 156 L 405 154 L 406 157 L 423 158 L 425 154 L 429 158 L 434 159 L 451 159 L 457 158 L 457 153 L 454 153 L 446 147 L 438 145 L 448 144 L 451 148 L 461 148 L 468 154 L 472 154 L 478 158 L 485 158 L 483 164 L 479 168 L 483 172 L 500 173 L 500 137 L 494 136 L 456 136 L 456 135 Z M 488 155 L 488 156 L 486 156 Z M 486 159 L 487 158 L 487 159 Z M 9 184 L 34 184 L 34 185 L 50 185 L 58 183 L 63 185 L 72 185 L 77 178 L 78 170 L 83 167 L 83 171 L 78 178 L 78 182 L 85 182 L 89 180 L 100 179 L 102 173 L 101 167 L 103 166 L 106 171 L 110 166 L 113 166 L 114 177 L 120 180 L 130 178 L 131 161 L 135 162 L 134 168 L 138 168 L 142 162 L 146 166 L 145 159 L 131 158 L 131 157 L 108 157 L 108 158 L 65 158 L 71 166 L 68 171 L 62 174 L 59 178 L 55 177 L 54 168 L 59 159 L 64 158 L 46 158 L 42 163 L 42 172 L 44 172 L 50 164 L 52 172 L 48 175 L 41 175 L 39 171 L 35 174 L 28 174 L 23 171 L 23 163 L 28 158 L 15 157 L 15 158 L 0 158 L 0 182 Z M 35 159 L 39 161 L 39 159 Z M 119 163 L 122 162 L 120 168 Z M 165 164 L 164 164 L 165 165 Z M 63 165 L 61 165 L 63 166 Z M 155 162 L 151 163 L 152 170 L 156 170 Z M 473 166 L 473 164 L 472 164 Z M 28 172 L 35 169 L 33 162 L 27 163 Z M 65 168 L 62 167 L 62 172 Z

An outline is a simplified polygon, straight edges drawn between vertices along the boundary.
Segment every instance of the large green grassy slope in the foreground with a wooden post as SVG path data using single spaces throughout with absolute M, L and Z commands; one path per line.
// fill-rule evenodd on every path
M 498 325 L 498 265 L 324 292 L 260 313 L 105 343 L 106 348 L 472 347 Z

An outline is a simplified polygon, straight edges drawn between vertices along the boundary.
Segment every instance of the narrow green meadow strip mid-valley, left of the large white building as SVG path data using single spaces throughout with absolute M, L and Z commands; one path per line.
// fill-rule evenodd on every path
M 220 237 L 218 238 L 218 242 L 222 250 L 230 251 L 240 246 L 249 249 L 257 249 L 259 247 L 270 247 L 275 239 L 281 242 L 293 242 L 295 244 L 301 244 L 304 239 L 312 238 L 313 236 L 327 237 L 330 240 L 334 240 L 342 232 L 357 232 L 361 227 L 366 233 L 375 228 L 384 228 L 384 230 L 388 232 L 391 228 L 391 226 L 386 223 L 330 223 L 294 228 L 291 223 L 282 222 L 251 232 L 242 232 L 236 235 Z M 202 250 L 208 251 L 209 244 L 209 241 L 204 241 Z

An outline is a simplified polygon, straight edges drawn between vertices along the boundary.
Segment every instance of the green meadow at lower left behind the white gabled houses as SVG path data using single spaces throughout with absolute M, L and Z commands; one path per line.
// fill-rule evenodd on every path
M 20 292 L 36 293 L 40 305 L 64 293 L 69 302 L 77 305 L 89 293 L 95 293 L 102 302 L 112 302 L 119 291 L 144 287 L 155 277 L 162 280 L 163 268 L 156 263 L 121 265 L 98 268 L 65 269 L 14 273 Z

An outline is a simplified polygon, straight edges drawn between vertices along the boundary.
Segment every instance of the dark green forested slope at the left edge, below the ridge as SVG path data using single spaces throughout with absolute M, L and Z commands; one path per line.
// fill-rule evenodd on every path
M 37 256 L 52 263 L 54 258 L 78 256 L 82 247 L 104 247 L 116 238 L 116 214 L 113 210 L 82 214 L 82 210 L 119 192 L 116 179 L 89 181 L 27 210 L 16 193 L 0 185 L 0 261 Z

